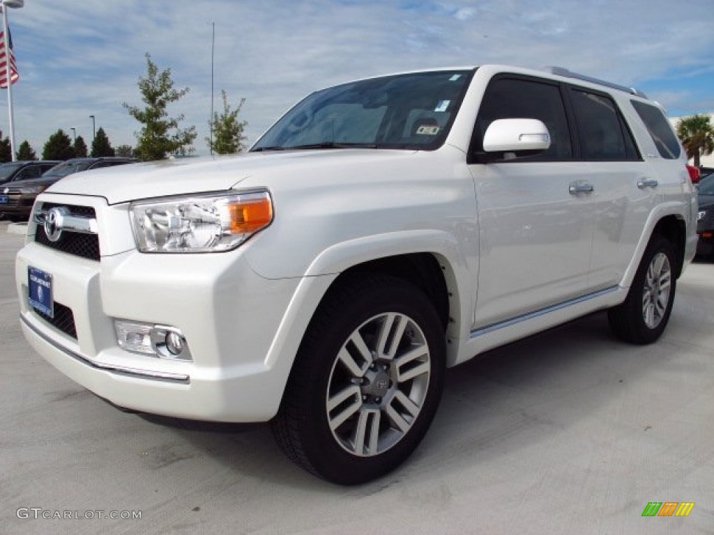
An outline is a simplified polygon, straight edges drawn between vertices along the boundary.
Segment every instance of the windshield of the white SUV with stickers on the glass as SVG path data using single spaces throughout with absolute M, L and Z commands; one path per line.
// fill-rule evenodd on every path
M 473 71 L 411 73 L 345 83 L 305 98 L 251 151 L 441 146 Z

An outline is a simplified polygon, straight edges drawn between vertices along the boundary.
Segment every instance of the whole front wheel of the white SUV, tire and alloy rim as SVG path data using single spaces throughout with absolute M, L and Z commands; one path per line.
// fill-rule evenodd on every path
M 426 295 L 395 277 L 348 279 L 311 320 L 273 434 L 289 459 L 333 483 L 381 477 L 426 434 L 445 365 Z

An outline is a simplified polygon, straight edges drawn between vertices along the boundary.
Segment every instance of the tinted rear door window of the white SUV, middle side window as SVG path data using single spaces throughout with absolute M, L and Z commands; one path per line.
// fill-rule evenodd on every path
M 632 134 L 609 97 L 573 88 L 570 93 L 583 159 L 638 160 Z

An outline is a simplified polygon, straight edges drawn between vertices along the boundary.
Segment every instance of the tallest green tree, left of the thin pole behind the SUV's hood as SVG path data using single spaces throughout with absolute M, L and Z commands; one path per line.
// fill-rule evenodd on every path
M 151 61 L 151 55 L 146 54 L 146 78 L 139 78 L 139 91 L 145 107 L 138 108 L 124 103 L 129 115 L 142 125 L 141 131 L 135 134 L 136 154 L 142 160 L 163 160 L 170 154 L 186 154 L 193 151 L 193 140 L 196 139 L 196 127 L 178 128 L 183 121 L 183 114 L 171 118 L 166 106 L 180 100 L 188 93 L 188 88 L 180 91 L 174 89 L 171 79 L 171 69 L 159 71 L 156 63 Z

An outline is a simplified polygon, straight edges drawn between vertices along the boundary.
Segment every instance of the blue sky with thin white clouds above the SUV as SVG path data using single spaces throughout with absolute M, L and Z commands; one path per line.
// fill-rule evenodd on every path
M 714 112 L 714 0 L 25 0 L 9 9 L 20 80 L 16 147 L 38 156 L 58 128 L 89 145 L 92 121 L 112 146 L 136 144 L 145 54 L 170 68 L 169 106 L 208 154 L 221 90 L 248 141 L 296 101 L 355 78 L 419 68 L 557 65 L 633 86 L 670 116 Z M 9 133 L 7 92 L 0 131 Z

